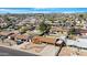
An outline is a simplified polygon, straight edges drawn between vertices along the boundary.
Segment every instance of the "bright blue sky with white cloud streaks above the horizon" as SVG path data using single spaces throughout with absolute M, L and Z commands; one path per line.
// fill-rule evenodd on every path
M 81 13 L 87 8 L 0 8 L 0 13 Z

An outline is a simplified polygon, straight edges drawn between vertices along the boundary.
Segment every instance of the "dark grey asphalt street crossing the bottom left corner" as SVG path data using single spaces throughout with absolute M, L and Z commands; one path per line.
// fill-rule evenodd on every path
M 0 56 L 37 56 L 37 55 L 0 46 Z

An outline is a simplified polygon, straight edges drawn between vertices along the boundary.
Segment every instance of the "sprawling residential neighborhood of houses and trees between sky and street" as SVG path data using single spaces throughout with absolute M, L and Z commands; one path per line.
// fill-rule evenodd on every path
M 1 47 L 24 56 L 87 56 L 87 13 L 0 14 Z

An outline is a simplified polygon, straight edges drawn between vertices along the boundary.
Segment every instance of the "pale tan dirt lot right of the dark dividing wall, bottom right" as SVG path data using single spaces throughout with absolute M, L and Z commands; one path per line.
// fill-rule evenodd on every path
M 59 56 L 87 56 L 86 50 L 78 50 L 75 47 L 63 47 Z

